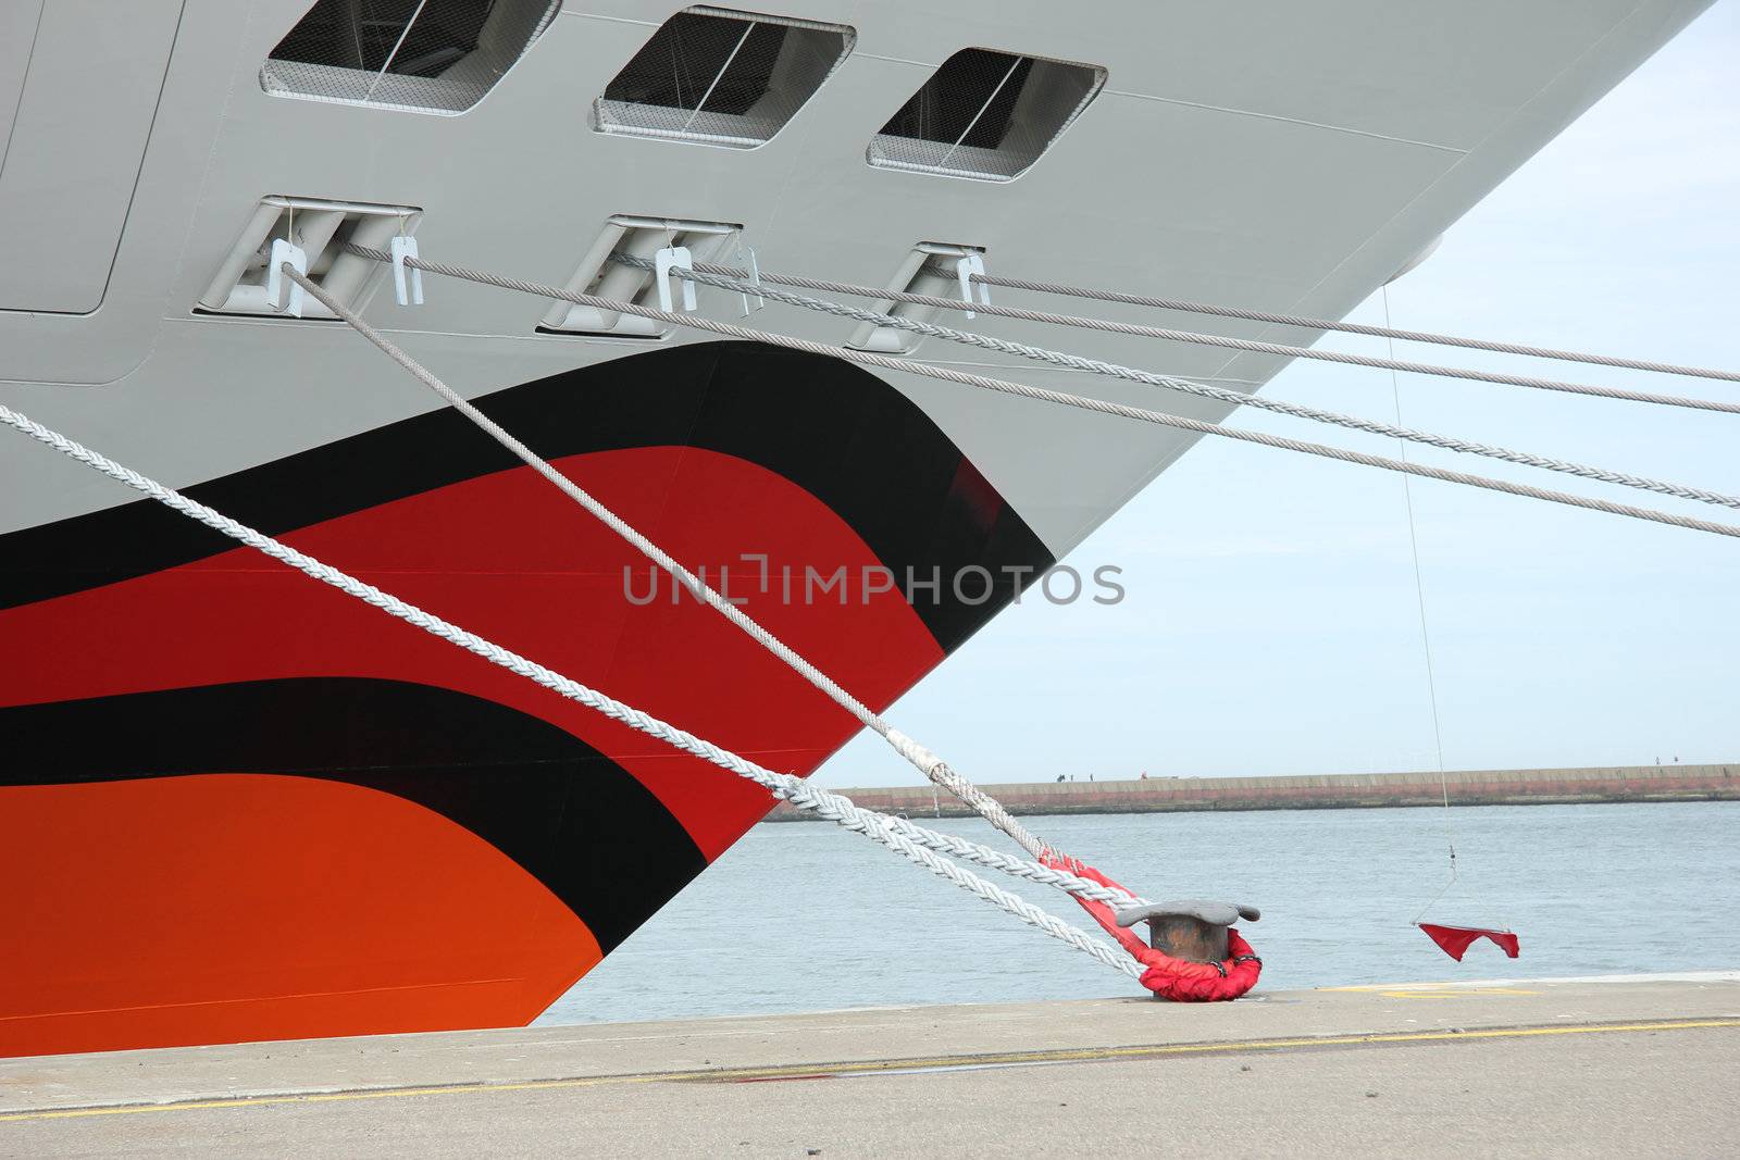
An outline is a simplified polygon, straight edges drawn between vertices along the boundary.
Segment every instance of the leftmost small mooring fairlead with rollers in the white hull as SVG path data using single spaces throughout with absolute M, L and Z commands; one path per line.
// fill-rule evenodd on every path
M 261 198 L 193 310 L 200 315 L 285 317 L 266 299 L 266 264 L 275 240 L 299 245 L 308 256 L 308 277 L 338 301 L 360 310 L 386 278 L 386 266 L 346 254 L 345 247 L 355 242 L 385 250 L 400 231 L 412 233 L 419 219 L 421 210 L 409 205 Z M 304 299 L 303 318 L 334 317 L 311 296 Z

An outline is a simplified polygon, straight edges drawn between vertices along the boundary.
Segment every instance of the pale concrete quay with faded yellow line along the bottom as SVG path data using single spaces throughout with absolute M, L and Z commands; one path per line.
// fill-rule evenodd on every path
M 1740 972 L 0 1061 L 0 1155 L 1733 1155 Z

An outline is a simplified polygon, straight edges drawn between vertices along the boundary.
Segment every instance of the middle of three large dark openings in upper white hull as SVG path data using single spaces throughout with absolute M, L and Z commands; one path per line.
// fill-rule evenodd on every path
M 748 150 L 771 141 L 853 50 L 842 24 L 691 7 L 593 103 L 599 132 Z

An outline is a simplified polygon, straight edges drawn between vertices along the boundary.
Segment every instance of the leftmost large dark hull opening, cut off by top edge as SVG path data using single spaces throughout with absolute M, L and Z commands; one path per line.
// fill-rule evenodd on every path
M 562 0 L 318 0 L 259 70 L 275 96 L 463 113 Z

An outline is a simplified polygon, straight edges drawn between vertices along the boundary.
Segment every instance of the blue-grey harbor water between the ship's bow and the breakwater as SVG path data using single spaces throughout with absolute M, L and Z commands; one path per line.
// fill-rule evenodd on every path
M 922 821 L 922 819 L 917 819 Z M 936 830 L 1013 850 L 978 819 Z M 1740 967 L 1740 802 L 1034 817 L 1154 899 L 1263 910 L 1263 990 Z M 1409 923 L 1509 927 L 1462 963 Z M 985 871 L 990 873 L 990 871 Z M 1056 890 L 992 875 L 1088 923 Z M 632 889 L 632 887 L 630 887 Z M 1086 998 L 1133 984 L 832 824 L 755 826 L 539 1023 Z

